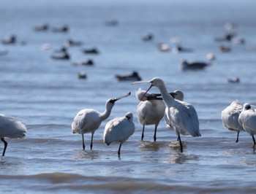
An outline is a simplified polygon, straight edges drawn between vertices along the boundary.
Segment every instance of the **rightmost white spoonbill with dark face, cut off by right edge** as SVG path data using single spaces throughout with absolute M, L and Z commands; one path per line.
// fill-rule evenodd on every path
M 252 109 L 249 103 L 245 103 L 243 110 L 238 117 L 240 125 L 244 130 L 252 136 L 253 144 L 255 146 L 255 134 L 256 134 L 256 112 Z

